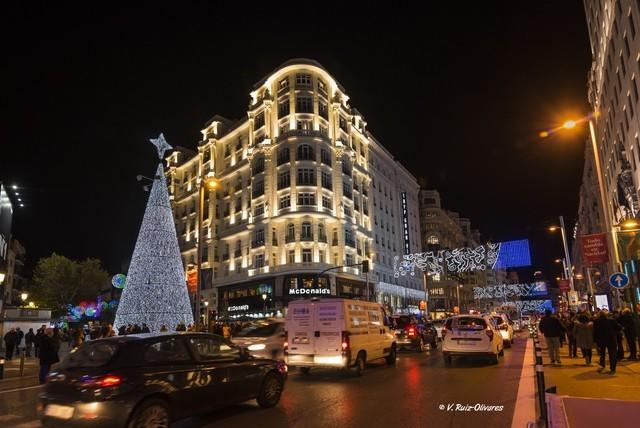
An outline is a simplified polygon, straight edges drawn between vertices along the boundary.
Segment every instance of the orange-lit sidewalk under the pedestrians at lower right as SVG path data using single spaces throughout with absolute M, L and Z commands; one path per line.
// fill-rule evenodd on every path
M 615 375 L 608 374 L 608 360 L 603 373 L 598 372 L 600 357 L 595 349 L 590 366 L 578 358 L 569 358 L 569 347 L 560 348 L 562 365 L 551 365 L 544 338 L 540 341 L 547 394 L 550 427 L 628 426 L 640 414 L 640 361 L 618 361 Z M 629 355 L 626 352 L 625 355 Z

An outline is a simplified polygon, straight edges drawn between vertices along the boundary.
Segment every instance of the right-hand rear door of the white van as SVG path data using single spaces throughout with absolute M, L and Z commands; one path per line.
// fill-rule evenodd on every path
M 315 304 L 316 355 L 342 354 L 343 306 L 342 300 Z

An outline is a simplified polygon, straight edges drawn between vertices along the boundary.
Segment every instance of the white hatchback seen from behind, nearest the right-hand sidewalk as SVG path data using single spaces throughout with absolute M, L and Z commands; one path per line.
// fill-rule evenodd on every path
M 442 329 L 442 355 L 447 364 L 454 356 L 488 357 L 497 364 L 504 344 L 490 316 L 456 315 Z

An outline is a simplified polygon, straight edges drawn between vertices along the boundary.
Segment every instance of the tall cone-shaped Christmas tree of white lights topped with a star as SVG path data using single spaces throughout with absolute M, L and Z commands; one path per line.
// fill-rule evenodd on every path
M 162 134 L 151 142 L 162 160 L 171 146 Z M 151 331 L 159 331 L 163 325 L 172 331 L 179 323 L 193 323 L 162 161 L 153 180 L 114 328 L 142 323 Z

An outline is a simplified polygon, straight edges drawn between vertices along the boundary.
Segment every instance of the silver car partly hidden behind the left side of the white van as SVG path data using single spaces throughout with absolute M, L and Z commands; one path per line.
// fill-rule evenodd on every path
M 249 324 L 231 341 L 255 357 L 283 359 L 284 339 L 284 319 L 266 319 Z

